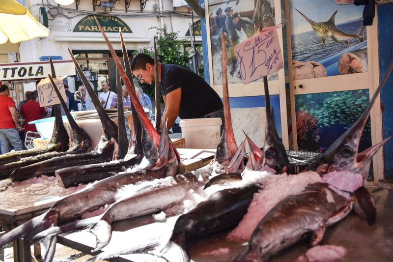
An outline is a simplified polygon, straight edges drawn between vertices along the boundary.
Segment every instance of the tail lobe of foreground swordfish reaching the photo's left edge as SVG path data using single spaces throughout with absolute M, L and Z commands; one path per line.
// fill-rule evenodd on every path
M 46 214 L 46 213 L 45 213 Z M 11 243 L 12 241 L 20 238 L 28 238 L 28 236 L 33 232 L 40 230 L 43 227 L 43 220 L 45 214 L 38 217 L 34 217 L 28 222 L 14 228 L 13 230 L 5 233 L 0 237 L 0 246 Z

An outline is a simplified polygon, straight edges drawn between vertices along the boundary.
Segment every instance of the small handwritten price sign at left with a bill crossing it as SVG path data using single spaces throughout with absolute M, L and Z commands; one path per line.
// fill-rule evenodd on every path
M 60 94 L 63 97 L 64 101 L 67 102 L 67 95 L 65 94 L 63 85 L 63 77 L 54 78 L 53 81 L 55 82 L 56 87 L 60 91 Z M 41 80 L 41 82 L 37 85 L 37 92 L 40 107 L 60 104 L 60 100 L 58 99 L 56 91 L 53 88 L 53 85 L 49 78 Z

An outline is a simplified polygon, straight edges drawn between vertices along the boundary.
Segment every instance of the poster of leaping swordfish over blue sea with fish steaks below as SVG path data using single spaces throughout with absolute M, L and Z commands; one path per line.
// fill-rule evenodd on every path
M 293 79 L 368 72 L 363 8 L 335 0 L 290 0 Z

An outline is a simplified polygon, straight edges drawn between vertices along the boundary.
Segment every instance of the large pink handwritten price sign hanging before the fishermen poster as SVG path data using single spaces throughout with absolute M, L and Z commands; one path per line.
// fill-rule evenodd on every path
M 284 68 L 276 27 L 263 29 L 234 50 L 244 84 Z

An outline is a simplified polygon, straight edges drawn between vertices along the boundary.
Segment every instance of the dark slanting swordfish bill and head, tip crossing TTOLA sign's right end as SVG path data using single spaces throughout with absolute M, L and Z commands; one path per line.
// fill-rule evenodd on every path
M 97 114 L 101 120 L 101 125 L 102 125 L 102 129 L 104 131 L 103 132 L 104 135 L 101 136 L 101 141 L 97 147 L 99 147 L 99 145 L 103 142 L 103 139 L 110 141 L 111 138 L 114 138 L 114 140 L 117 143 L 119 143 L 119 140 L 118 140 L 118 132 L 119 131 L 118 131 L 117 125 L 113 122 L 111 117 L 108 116 L 107 112 L 105 112 L 104 107 L 102 106 L 96 93 L 94 92 L 93 88 L 90 86 L 89 81 L 87 80 L 86 76 L 84 75 L 81 66 L 78 64 L 77 60 L 75 59 L 74 55 L 72 54 L 72 52 L 69 48 L 68 48 L 68 52 L 70 53 L 70 57 L 72 58 L 72 61 L 74 62 L 74 65 L 78 71 L 78 74 L 81 76 L 84 87 L 86 88 L 86 91 L 89 93 L 91 101 L 93 102 L 94 107 L 97 110 Z

